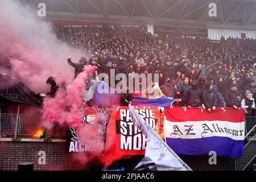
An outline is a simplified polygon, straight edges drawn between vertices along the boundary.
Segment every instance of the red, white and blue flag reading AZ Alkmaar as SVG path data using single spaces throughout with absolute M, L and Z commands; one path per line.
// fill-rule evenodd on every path
M 164 137 L 176 154 L 238 158 L 243 155 L 244 109 L 217 108 L 208 113 L 198 108 L 164 109 Z

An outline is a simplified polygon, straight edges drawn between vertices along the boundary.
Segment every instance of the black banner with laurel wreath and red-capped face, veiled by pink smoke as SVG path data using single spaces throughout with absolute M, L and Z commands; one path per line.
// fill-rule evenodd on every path
M 101 152 L 104 150 L 109 114 L 98 106 L 84 106 L 80 110 L 81 127 L 68 127 L 67 152 Z

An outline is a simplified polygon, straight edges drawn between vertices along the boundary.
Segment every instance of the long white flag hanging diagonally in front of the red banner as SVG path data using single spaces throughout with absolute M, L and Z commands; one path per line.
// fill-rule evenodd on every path
M 158 134 L 144 121 L 129 105 L 130 117 L 134 125 L 147 137 L 147 146 L 144 158 L 134 168 L 137 170 L 151 171 L 191 171 L 187 164 L 175 154 L 174 151 L 159 137 Z

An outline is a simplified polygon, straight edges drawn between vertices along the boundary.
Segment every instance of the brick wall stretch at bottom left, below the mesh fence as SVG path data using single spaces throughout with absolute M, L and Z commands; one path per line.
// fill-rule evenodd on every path
M 65 154 L 65 142 L 0 142 L 0 170 L 18 170 L 22 162 L 34 163 L 34 170 L 81 170 L 82 166 Z M 46 165 L 38 164 L 38 152 L 46 152 Z

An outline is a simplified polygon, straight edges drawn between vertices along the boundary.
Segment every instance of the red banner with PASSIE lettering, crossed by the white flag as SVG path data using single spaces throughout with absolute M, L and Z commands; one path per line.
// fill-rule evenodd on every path
M 138 106 L 135 110 L 155 128 L 160 114 L 158 107 Z M 122 106 L 113 111 L 107 130 L 106 148 L 111 147 L 115 155 L 143 155 L 146 142 L 147 138 L 131 121 L 129 107 Z

